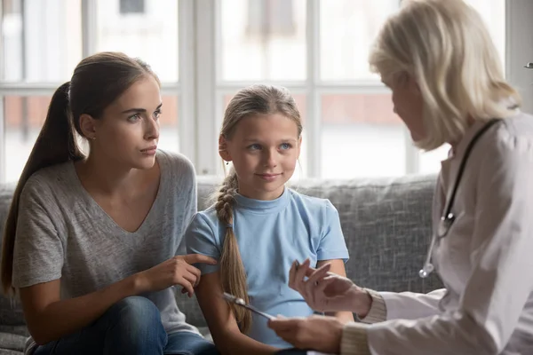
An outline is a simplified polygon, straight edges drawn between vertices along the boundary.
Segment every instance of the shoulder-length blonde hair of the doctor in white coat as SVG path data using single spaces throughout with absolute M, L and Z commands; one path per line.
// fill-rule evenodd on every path
M 460 140 L 469 117 L 512 115 L 520 96 L 505 82 L 479 13 L 462 0 L 404 3 L 381 29 L 369 61 L 384 80 L 410 75 L 418 83 L 426 138 L 415 144 L 432 150 Z

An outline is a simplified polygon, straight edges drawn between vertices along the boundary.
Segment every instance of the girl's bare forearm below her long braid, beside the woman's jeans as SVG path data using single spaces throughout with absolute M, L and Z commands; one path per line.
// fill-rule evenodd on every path
M 270 355 L 279 351 L 273 346 L 259 343 L 241 333 L 233 312 L 222 298 L 222 293 L 219 272 L 202 275 L 202 280 L 196 288 L 196 298 L 217 349 L 223 355 Z

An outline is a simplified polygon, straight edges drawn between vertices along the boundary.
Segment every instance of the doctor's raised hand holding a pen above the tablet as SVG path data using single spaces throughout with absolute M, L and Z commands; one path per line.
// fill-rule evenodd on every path
M 314 269 L 308 259 L 299 266 L 292 264 L 289 287 L 298 291 L 317 312 L 349 311 L 364 318 L 372 305 L 367 291 L 352 280 L 330 272 L 330 264 Z

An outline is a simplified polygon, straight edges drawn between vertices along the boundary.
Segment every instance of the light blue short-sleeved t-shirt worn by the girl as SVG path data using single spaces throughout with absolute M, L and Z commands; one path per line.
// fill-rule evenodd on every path
M 273 201 L 237 194 L 234 233 L 243 258 L 251 304 L 274 316 L 306 317 L 314 312 L 297 291 L 289 288 L 294 260 L 348 259 L 338 212 L 329 200 L 285 188 Z M 187 253 L 220 259 L 227 225 L 214 207 L 198 212 L 187 228 Z M 197 264 L 202 273 L 217 272 L 218 265 Z M 267 327 L 267 319 L 252 313 L 251 338 L 280 348 L 290 347 Z

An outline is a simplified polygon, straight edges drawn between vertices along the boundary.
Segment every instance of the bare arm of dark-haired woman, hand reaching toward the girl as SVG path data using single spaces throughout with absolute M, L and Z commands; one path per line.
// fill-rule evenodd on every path
M 20 288 L 20 300 L 28 330 L 36 343 L 44 344 L 75 333 L 98 319 L 107 309 L 127 296 L 159 291 L 181 285 L 192 296 L 200 271 L 191 264 L 216 264 L 208 256 L 175 256 L 88 295 L 60 299 L 60 280 Z

